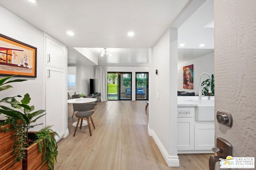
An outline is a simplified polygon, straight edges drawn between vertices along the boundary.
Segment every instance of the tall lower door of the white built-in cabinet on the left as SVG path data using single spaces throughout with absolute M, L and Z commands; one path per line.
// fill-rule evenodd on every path
M 66 122 L 66 78 L 62 69 L 46 66 L 46 126 L 60 136 L 65 133 Z

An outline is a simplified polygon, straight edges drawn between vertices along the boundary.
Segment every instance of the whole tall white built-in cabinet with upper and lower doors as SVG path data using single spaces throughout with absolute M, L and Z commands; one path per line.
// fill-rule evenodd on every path
M 67 49 L 44 34 L 45 56 L 45 125 L 53 125 L 60 138 L 68 135 L 67 126 Z M 56 138 L 59 140 L 60 138 Z

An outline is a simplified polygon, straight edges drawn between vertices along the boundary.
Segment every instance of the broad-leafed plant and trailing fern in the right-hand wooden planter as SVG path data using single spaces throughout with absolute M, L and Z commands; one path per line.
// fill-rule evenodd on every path
M 16 97 L 21 96 L 19 95 Z M 36 126 L 31 125 L 31 123 L 35 123 L 40 117 L 46 115 L 44 113 L 45 110 L 34 111 L 34 106 L 28 105 L 31 99 L 28 93 L 24 95 L 20 102 L 16 100 L 16 97 L 6 97 L 2 99 L 3 102 L 10 103 L 12 108 L 0 105 L 2 108 L 0 109 L 0 113 L 7 115 L 8 119 L 11 120 L 22 120 L 22 136 L 20 137 L 23 137 L 23 139 L 25 138 L 27 146 L 25 148 L 25 156 L 22 161 L 23 169 L 30 169 L 31 167 L 33 169 L 53 169 L 53 165 L 56 163 L 56 157 L 58 154 L 57 143 L 54 138 L 54 134 L 56 133 L 52 132 L 52 130 L 47 127 L 38 132 L 40 135 L 36 135 L 38 137 L 35 139 L 30 138 L 28 135 L 28 130 Z M 38 125 L 42 125 L 42 123 Z M 53 134 L 51 137 L 48 135 L 49 132 Z M 36 140 L 36 142 L 33 140 Z M 43 143 L 40 143 L 41 140 Z M 51 145 L 45 142 L 46 140 L 50 140 Z M 42 149 L 42 147 L 44 149 Z M 46 151 L 46 154 L 44 154 L 44 151 Z

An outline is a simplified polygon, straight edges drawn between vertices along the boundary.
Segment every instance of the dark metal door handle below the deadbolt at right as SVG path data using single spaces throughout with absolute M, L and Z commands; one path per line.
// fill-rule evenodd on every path
M 232 145 L 224 138 L 217 138 L 216 148 L 212 148 L 212 151 L 217 155 L 210 156 L 209 170 L 215 170 L 215 164 L 220 161 L 220 158 L 226 159 L 227 156 L 232 156 Z

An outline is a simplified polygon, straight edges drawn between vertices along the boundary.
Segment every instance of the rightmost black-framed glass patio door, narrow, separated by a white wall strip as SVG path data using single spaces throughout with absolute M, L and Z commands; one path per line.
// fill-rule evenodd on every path
M 148 72 L 136 72 L 136 100 L 148 100 Z

